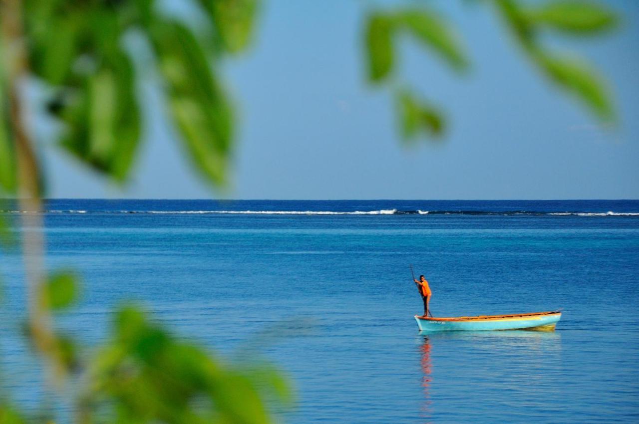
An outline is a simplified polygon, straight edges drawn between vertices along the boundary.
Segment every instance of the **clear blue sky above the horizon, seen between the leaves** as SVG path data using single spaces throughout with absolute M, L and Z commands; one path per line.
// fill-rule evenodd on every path
M 486 2 L 431 2 L 458 27 L 472 61 L 457 75 L 403 43 L 396 80 L 437 103 L 446 137 L 402 144 L 388 89 L 366 84 L 362 23 L 370 3 L 266 0 L 252 48 L 227 63 L 238 109 L 229 187 L 190 170 L 157 97 L 130 183 L 118 188 L 45 146 L 49 197 L 158 199 L 637 199 L 639 3 L 613 34 L 547 45 L 606 75 L 619 124 L 604 130 L 551 86 Z

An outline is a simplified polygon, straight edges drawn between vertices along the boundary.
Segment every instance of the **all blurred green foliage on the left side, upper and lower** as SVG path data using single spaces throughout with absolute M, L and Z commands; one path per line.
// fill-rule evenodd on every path
M 13 93 L 27 75 L 11 75 L 4 66 L 22 56 L 28 76 L 45 87 L 45 110 L 61 124 L 54 134 L 59 145 L 114 181 L 126 181 L 142 128 L 141 75 L 126 43 L 132 33 L 141 34 L 153 53 L 167 110 L 196 169 L 213 184 L 224 181 L 233 112 L 217 69 L 224 56 L 247 47 L 257 1 L 192 1 L 208 18 L 206 26 L 176 20 L 154 0 L 16 1 L 0 3 L 0 192 L 15 194 L 22 183 L 14 134 L 23 123 L 11 112 L 24 101 Z M 0 236 L 10 234 L 4 221 L 0 215 Z M 256 358 L 251 367 L 225 363 L 174 337 L 140 308 L 122 308 L 111 340 L 82 352 L 63 329 L 45 324 L 49 311 L 65 312 L 77 301 L 79 277 L 55 271 L 36 287 L 40 300 L 24 326 L 26 337 L 73 381 L 78 423 L 264 424 L 273 419 L 270 405 L 292 401 L 287 379 L 272 366 Z M 42 421 L 0 397 L 0 424 L 21 422 Z

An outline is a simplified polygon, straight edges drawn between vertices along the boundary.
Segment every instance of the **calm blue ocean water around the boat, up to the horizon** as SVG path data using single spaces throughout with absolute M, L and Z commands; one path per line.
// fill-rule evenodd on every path
M 109 310 L 137 299 L 228 358 L 258 347 L 295 382 L 288 423 L 639 422 L 639 201 L 56 200 L 46 209 L 47 265 L 84 278 L 60 326 L 90 348 L 107 335 Z M 420 335 L 411 263 L 431 284 L 434 315 L 564 316 L 554 333 Z M 38 369 L 15 337 L 19 252 L 0 254 L 0 273 L 0 376 L 33 409 Z

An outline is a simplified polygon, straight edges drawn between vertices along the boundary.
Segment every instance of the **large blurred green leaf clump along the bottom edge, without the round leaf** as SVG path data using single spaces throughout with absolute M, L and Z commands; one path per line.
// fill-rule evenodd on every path
M 87 377 L 84 422 L 265 424 L 271 418 L 263 399 L 291 400 L 279 372 L 231 367 L 135 307 L 116 314 L 112 340 Z

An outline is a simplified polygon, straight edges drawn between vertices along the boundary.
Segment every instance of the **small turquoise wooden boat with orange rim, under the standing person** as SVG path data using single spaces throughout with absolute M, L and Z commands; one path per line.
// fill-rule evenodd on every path
M 420 331 L 488 331 L 500 329 L 531 329 L 554 331 L 561 319 L 559 310 L 531 314 L 479 315 L 477 317 L 430 318 L 415 315 Z

